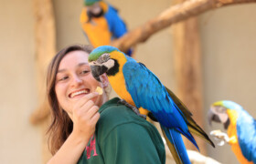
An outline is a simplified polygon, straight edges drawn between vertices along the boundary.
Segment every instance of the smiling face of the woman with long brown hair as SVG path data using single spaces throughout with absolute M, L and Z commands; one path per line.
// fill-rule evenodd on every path
M 101 76 L 102 83 L 92 77 L 88 56 L 89 54 L 84 51 L 71 51 L 59 63 L 55 92 L 60 107 L 69 114 L 72 113 L 72 108 L 78 99 L 94 92 L 98 86 L 105 88 L 109 84 L 106 75 Z M 105 97 L 106 94 L 103 94 L 91 100 L 101 107 L 106 100 Z

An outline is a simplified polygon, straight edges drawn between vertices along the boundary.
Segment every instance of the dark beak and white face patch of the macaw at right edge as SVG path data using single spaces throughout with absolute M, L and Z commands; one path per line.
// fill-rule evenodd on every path
M 215 108 L 210 108 L 208 110 L 208 124 L 211 126 L 211 122 L 219 122 L 224 125 L 224 128 L 229 127 L 229 117 L 227 113 L 217 113 Z

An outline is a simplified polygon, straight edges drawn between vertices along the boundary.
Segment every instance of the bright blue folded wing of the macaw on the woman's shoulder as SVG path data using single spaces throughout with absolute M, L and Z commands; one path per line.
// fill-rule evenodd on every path
M 149 69 L 133 59 L 129 59 L 123 66 L 123 77 L 126 89 L 133 97 L 136 107 L 148 109 L 153 113 L 161 127 L 164 128 L 167 138 L 174 143 L 177 153 L 183 153 L 184 157 L 187 156 L 187 150 L 185 147 L 181 147 L 182 140 L 179 139 L 176 132 L 183 134 L 197 147 L 195 139 L 188 131 L 187 118 L 176 106 L 160 80 Z M 182 161 L 184 160 L 182 155 L 179 157 L 182 158 Z

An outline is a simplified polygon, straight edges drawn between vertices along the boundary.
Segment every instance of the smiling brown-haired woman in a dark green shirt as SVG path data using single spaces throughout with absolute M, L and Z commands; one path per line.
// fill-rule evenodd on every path
M 91 75 L 91 46 L 68 46 L 48 67 L 50 163 L 165 163 L 165 147 L 157 129 L 115 97 L 108 101 L 106 75 Z M 101 115 L 101 117 L 100 117 Z

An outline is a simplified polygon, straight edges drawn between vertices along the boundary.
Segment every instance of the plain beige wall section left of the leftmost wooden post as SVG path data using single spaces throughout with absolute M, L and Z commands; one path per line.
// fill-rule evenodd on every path
M 31 0 L 0 5 L 0 163 L 40 163 L 40 130 L 29 124 L 37 107 Z

